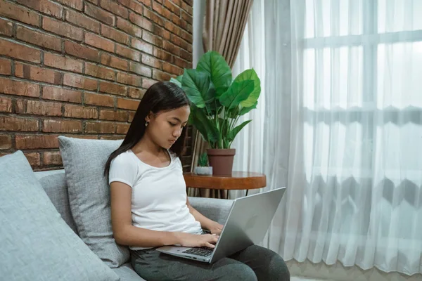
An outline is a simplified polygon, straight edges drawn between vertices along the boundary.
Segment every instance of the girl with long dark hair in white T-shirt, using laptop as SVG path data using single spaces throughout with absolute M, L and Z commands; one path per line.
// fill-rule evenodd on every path
M 290 280 L 281 256 L 256 245 L 212 264 L 155 250 L 173 244 L 213 248 L 223 228 L 194 209 L 186 195 L 179 156 L 189 113 L 186 94 L 171 82 L 153 84 L 143 96 L 105 166 L 115 241 L 129 246 L 134 270 L 148 281 Z

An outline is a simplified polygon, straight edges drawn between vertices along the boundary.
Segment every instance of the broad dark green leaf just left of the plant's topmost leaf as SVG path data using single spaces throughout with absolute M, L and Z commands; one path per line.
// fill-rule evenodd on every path
M 215 89 L 207 72 L 185 70 L 181 86 L 196 107 L 203 108 L 207 104 L 214 103 Z

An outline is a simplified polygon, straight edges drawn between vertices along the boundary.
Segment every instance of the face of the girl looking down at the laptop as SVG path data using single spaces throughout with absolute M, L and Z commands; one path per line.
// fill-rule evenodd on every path
M 188 123 L 190 113 L 189 106 L 185 105 L 175 110 L 150 114 L 146 117 L 146 122 L 148 122 L 146 133 L 154 143 L 169 149 L 181 135 L 181 131 Z

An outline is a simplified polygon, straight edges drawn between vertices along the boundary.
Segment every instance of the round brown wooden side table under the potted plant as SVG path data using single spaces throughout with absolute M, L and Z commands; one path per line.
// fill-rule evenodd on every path
M 231 176 L 200 176 L 185 173 L 184 180 L 188 188 L 246 190 L 246 196 L 250 189 L 267 186 L 267 176 L 248 171 L 234 171 Z M 229 199 L 229 192 L 226 199 Z

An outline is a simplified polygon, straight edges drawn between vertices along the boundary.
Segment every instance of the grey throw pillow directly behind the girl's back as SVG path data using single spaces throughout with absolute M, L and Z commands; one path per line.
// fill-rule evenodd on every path
M 58 142 L 79 237 L 110 268 L 117 268 L 129 261 L 129 248 L 116 244 L 113 238 L 110 186 L 103 171 L 108 156 L 122 141 L 59 136 Z

